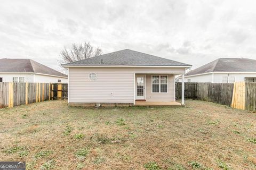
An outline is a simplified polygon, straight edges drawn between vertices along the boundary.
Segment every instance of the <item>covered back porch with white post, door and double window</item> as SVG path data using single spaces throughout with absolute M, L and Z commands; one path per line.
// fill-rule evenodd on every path
M 134 73 L 135 106 L 183 106 L 184 79 L 181 103 L 175 100 L 175 73 Z M 184 74 L 182 74 L 184 78 Z

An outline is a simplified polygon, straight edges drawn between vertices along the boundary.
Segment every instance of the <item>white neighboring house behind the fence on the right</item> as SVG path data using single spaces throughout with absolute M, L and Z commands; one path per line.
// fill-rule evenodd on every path
M 181 77 L 178 81 L 181 82 Z M 219 58 L 185 74 L 185 82 L 234 83 L 256 82 L 256 60 Z

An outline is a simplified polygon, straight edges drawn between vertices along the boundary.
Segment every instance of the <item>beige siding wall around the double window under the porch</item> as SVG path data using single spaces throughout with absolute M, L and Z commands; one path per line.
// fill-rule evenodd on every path
M 146 77 L 146 100 L 147 101 L 175 101 L 174 92 L 174 76 L 173 74 L 168 75 L 168 88 L 167 92 L 152 92 L 152 74 L 147 74 Z M 162 74 L 154 74 L 162 75 Z M 160 87 L 159 87 L 160 90 Z

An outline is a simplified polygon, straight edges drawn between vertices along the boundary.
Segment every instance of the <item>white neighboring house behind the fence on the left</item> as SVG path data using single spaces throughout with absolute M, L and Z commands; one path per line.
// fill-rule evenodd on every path
M 0 82 L 68 82 L 68 77 L 30 59 L 0 59 Z

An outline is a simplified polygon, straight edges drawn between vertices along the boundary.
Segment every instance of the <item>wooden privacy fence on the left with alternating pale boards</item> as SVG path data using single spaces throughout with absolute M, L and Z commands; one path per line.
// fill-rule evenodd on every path
M 0 82 L 0 108 L 58 99 L 52 94 L 51 87 L 51 83 Z M 60 91 L 59 95 L 67 98 L 67 92 L 62 94 Z

